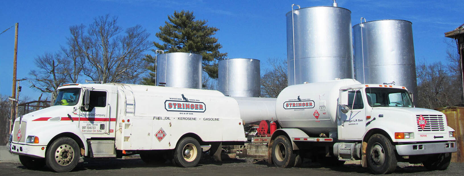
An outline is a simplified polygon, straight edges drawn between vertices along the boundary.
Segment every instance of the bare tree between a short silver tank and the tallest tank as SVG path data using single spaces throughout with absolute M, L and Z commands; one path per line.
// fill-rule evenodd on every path
M 271 58 L 268 64 L 272 69 L 267 69 L 261 76 L 261 96 L 276 98 L 287 87 L 287 61 L 283 58 Z

